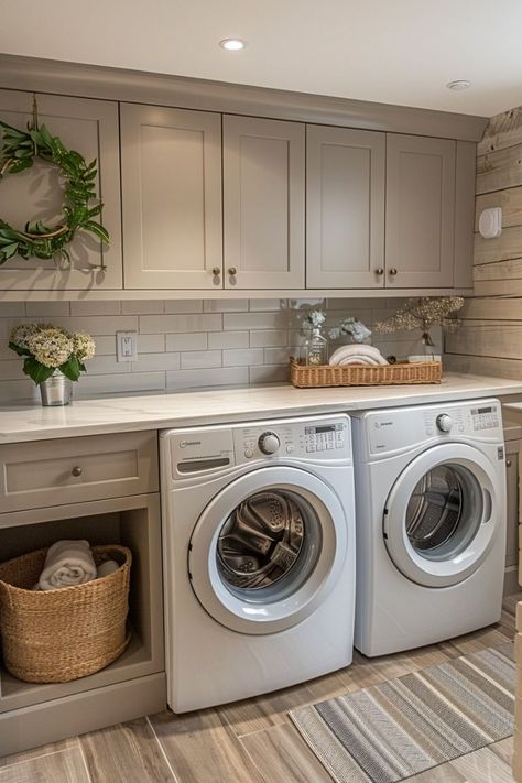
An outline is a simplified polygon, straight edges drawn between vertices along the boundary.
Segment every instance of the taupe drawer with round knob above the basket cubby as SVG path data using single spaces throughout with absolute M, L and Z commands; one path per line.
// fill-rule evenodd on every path
M 155 433 L 0 447 L 2 512 L 156 491 Z

